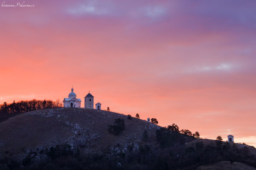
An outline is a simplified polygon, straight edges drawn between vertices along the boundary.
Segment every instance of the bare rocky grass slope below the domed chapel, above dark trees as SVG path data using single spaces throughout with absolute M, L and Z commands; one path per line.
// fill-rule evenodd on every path
M 125 119 L 125 130 L 119 136 L 108 133 L 114 119 Z M 24 157 L 31 150 L 56 144 L 70 144 L 84 153 L 100 152 L 122 145 L 122 150 L 133 143 L 136 147 L 144 130 L 155 138 L 160 128 L 141 119 L 127 119 L 126 115 L 84 108 L 50 108 L 23 113 L 0 122 L 0 157 Z

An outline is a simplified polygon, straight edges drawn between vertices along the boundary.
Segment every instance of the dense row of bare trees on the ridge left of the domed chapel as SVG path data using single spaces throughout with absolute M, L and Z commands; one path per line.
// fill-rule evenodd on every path
M 62 103 L 59 99 L 56 101 L 52 100 L 29 100 L 29 101 L 19 101 L 7 104 L 4 102 L 0 105 L 0 122 L 5 121 L 9 117 L 29 112 L 29 111 L 36 111 L 44 108 L 58 108 L 62 107 Z

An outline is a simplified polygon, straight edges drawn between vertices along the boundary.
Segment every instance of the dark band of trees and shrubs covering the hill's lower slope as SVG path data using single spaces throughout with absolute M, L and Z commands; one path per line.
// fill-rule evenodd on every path
M 108 153 L 80 153 L 76 146 L 57 144 L 49 149 L 42 148 L 40 153 L 32 152 L 40 154 L 38 156 L 43 159 L 34 159 L 31 155 L 19 161 L 12 157 L 0 157 L 0 169 L 19 170 L 23 165 L 23 170 L 195 170 L 198 166 L 219 161 L 230 161 L 231 164 L 239 161 L 256 167 L 256 156 L 250 153 L 250 147 L 239 149 L 236 144 L 230 147 L 230 143 L 223 142 L 223 147 L 218 150 L 214 142 L 205 146 L 203 141 L 184 147 L 184 144 L 178 142 L 189 142 L 187 139 L 191 141 L 194 138 L 174 133 L 167 128 L 159 129 L 157 133 L 157 138 L 160 137 L 166 147 L 159 148 L 154 142 L 152 145 L 141 143 L 139 148 L 130 144 L 128 150 L 122 153 L 116 152 L 113 147 Z M 173 135 L 181 138 L 175 142 Z M 119 162 L 122 167 L 118 167 Z

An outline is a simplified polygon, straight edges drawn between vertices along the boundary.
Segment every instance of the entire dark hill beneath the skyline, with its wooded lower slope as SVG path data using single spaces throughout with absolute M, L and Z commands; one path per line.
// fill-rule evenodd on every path
M 108 133 L 108 125 L 118 118 L 125 120 L 125 130 L 114 136 Z M 148 137 L 143 141 L 145 130 Z M 195 139 L 108 111 L 52 108 L 0 122 L 0 169 L 4 170 L 204 170 L 243 166 L 236 162 L 253 170 L 255 148 Z

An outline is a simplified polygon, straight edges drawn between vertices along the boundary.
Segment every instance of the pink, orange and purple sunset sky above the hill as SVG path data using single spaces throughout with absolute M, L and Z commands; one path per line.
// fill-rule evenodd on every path
M 255 0 L 0 0 L 0 104 L 60 99 L 256 147 Z

